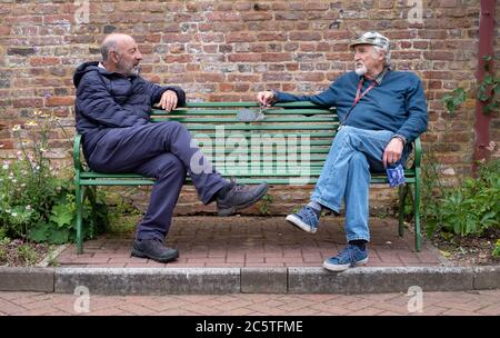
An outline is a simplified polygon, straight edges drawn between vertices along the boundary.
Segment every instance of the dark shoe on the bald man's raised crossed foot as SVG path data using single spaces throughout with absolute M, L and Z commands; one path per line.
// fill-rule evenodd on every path
M 238 185 L 230 181 L 229 190 L 217 197 L 219 216 L 230 216 L 240 209 L 244 209 L 261 199 L 268 191 L 268 183 L 262 182 L 254 187 Z

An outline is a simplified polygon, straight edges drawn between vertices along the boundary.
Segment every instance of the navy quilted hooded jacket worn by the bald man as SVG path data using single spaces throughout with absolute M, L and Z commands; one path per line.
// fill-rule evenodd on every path
M 151 107 L 167 90 L 177 93 L 179 107 L 186 105 L 186 93 L 178 87 L 160 87 L 98 66 L 99 62 L 82 63 L 73 76 L 77 130 L 83 136 L 83 150 L 91 151 L 110 128 L 148 123 Z

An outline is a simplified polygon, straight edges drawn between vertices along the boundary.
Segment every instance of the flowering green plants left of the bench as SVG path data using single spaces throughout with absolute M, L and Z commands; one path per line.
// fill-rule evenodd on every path
M 16 161 L 6 160 L 0 167 L 0 232 L 33 241 L 68 242 L 76 232 L 74 187 L 52 166 L 49 147 L 50 135 L 60 123 L 40 111 L 31 118 L 24 126 L 12 128 L 20 150 Z M 96 219 L 90 205 L 84 206 L 84 222 L 90 225 L 86 227 L 87 237 L 107 225 L 101 200 L 98 198 Z

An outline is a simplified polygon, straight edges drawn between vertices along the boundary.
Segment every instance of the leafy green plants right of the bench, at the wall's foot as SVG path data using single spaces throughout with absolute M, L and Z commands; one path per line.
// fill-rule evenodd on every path
M 500 159 L 484 165 L 477 178 L 467 178 L 456 188 L 441 186 L 424 200 L 428 236 L 436 231 L 480 236 L 489 228 L 500 228 Z

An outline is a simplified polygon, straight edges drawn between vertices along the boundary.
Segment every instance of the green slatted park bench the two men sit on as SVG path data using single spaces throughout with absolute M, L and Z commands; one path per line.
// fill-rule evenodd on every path
M 264 109 L 264 118 L 248 121 L 259 113 L 257 102 L 190 102 L 170 113 L 152 110 L 151 120 L 183 123 L 223 177 L 241 183 L 267 181 L 279 185 L 313 185 L 339 126 L 337 112 L 310 102 L 278 103 Z M 103 173 L 90 170 L 82 161 L 81 136 L 73 143 L 77 202 L 77 252 L 83 252 L 82 211 L 86 198 L 93 203 L 98 186 L 151 186 L 154 180 L 134 173 Z M 399 187 L 399 236 L 403 235 L 404 199 L 413 201 L 414 246 L 420 251 L 421 145 L 413 142 L 413 157 Z M 187 179 L 189 183 L 189 178 Z M 388 183 L 386 173 L 373 173 L 371 183 Z

